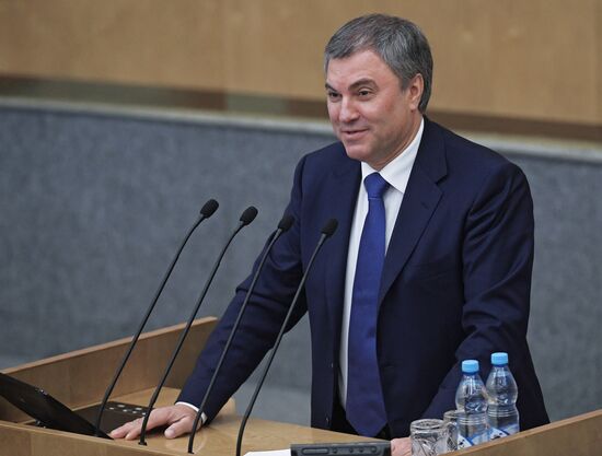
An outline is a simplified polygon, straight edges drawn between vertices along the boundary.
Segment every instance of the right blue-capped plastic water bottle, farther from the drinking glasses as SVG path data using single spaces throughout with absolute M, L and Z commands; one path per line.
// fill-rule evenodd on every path
M 508 367 L 508 353 L 493 353 L 491 372 L 487 377 L 489 440 L 519 432 L 517 396 L 517 382 Z

